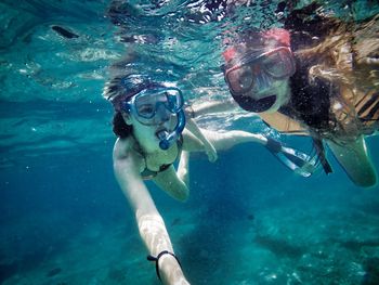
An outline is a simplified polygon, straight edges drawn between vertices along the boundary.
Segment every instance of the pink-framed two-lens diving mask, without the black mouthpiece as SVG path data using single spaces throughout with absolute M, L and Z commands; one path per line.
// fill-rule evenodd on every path
M 225 70 L 225 80 L 232 94 L 243 95 L 267 87 L 270 78 L 280 80 L 295 74 L 295 60 L 289 48 L 279 47 L 269 52 L 249 54 Z

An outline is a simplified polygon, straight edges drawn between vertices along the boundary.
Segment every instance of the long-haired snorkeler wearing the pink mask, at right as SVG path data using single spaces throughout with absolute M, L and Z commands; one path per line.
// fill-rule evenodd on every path
M 332 169 L 325 145 L 356 185 L 375 186 L 377 171 L 365 137 L 379 130 L 378 18 L 354 29 L 349 23 L 325 20 L 303 22 L 301 27 L 288 24 L 291 33 L 241 33 L 223 52 L 222 70 L 233 101 L 192 108 L 201 115 L 225 112 L 237 103 L 279 132 L 312 137 L 326 173 Z M 304 27 L 308 30 L 301 30 Z

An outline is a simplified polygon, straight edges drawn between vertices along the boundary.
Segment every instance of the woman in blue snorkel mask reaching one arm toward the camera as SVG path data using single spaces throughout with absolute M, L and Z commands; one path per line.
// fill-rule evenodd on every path
M 140 235 L 149 252 L 147 260 L 164 284 L 190 284 L 174 254 L 165 222 L 148 192 L 152 180 L 170 196 L 184 202 L 190 195 L 190 154 L 202 152 L 210 161 L 217 151 L 247 142 L 260 143 L 290 161 L 290 168 L 306 164 L 291 150 L 262 134 L 199 128 L 183 109 L 178 88 L 141 75 L 115 76 L 103 95 L 115 108 L 114 132 L 118 137 L 113 161 L 116 179 L 135 215 Z M 289 151 L 289 152 L 288 152 Z M 174 165 L 178 165 L 177 169 Z

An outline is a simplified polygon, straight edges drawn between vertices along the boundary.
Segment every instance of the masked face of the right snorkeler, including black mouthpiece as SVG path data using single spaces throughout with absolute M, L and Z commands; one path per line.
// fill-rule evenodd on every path
M 290 49 L 279 47 L 240 57 L 224 73 L 233 98 L 250 112 L 277 111 L 287 101 L 288 79 L 296 70 Z

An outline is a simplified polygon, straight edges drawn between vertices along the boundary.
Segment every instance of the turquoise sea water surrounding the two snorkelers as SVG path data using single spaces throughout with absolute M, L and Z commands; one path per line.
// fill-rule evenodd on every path
M 129 1 L 119 27 L 105 0 L 0 2 L 0 284 L 159 284 L 113 174 L 112 107 L 101 95 L 107 66 L 132 54 L 134 68 L 175 80 L 186 100 L 228 98 L 224 35 L 280 26 L 279 2 L 226 11 Z M 356 20 L 379 12 L 376 1 L 324 8 Z M 243 113 L 199 122 L 265 131 Z M 367 143 L 379 167 L 379 138 Z M 354 186 L 331 164 L 335 173 L 304 179 L 245 144 L 214 164 L 195 155 L 185 204 L 148 183 L 188 281 L 379 284 L 379 189 Z

